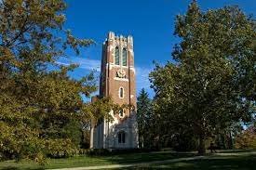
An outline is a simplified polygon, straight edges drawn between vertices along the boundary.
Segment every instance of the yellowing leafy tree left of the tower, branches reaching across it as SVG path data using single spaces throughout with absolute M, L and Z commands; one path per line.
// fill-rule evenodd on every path
M 67 73 L 76 65 L 56 62 L 93 44 L 63 28 L 65 8 L 63 0 L 0 2 L 0 159 L 73 155 L 79 124 L 102 115 L 82 98 L 97 89 L 93 74 L 74 80 Z M 108 109 L 105 101 L 97 107 Z

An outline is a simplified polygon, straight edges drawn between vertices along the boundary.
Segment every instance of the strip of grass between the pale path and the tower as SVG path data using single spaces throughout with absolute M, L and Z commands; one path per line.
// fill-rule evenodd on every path
M 141 163 L 148 161 L 157 161 L 165 159 L 173 159 L 177 157 L 193 156 L 194 153 L 169 153 L 169 152 L 143 152 L 143 153 L 128 153 L 118 154 L 113 156 L 74 156 L 66 159 L 47 159 L 45 166 L 40 166 L 32 161 L 14 161 L 0 162 L 0 169 L 13 170 L 31 170 L 31 169 L 48 169 L 48 168 L 65 168 L 65 167 L 79 167 L 92 165 L 106 165 L 116 163 Z

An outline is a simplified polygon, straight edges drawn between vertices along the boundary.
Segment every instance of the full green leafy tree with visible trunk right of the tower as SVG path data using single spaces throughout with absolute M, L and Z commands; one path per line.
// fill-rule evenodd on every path
M 252 119 L 255 22 L 238 7 L 202 12 L 193 1 L 177 17 L 175 34 L 182 38 L 172 53 L 176 63 L 156 65 L 150 75 L 155 110 L 170 135 L 192 130 L 205 153 L 220 129 Z

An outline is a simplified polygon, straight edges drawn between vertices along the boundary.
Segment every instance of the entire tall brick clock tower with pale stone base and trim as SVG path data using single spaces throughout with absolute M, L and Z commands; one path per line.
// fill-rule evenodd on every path
M 91 148 L 138 148 L 136 122 L 136 87 L 132 36 L 108 33 L 102 46 L 100 98 L 111 97 L 120 106 L 132 107 L 117 113 L 111 111 L 114 122 L 102 120 L 91 126 Z

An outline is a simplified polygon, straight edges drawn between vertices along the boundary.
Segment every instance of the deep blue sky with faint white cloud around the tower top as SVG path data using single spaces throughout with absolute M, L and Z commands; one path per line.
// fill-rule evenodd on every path
M 137 93 L 144 87 L 153 97 L 148 73 L 154 68 L 153 60 L 164 64 L 171 60 L 171 51 L 179 39 L 173 35 L 175 17 L 184 14 L 191 0 L 67 0 L 65 28 L 75 36 L 91 38 L 95 46 L 82 50 L 80 57 L 71 54 L 70 59 L 80 68 L 72 73 L 79 78 L 88 71 L 100 72 L 101 44 L 108 32 L 131 34 L 134 38 L 134 56 L 137 72 Z M 197 0 L 206 11 L 224 6 L 237 5 L 248 15 L 256 15 L 256 0 Z

